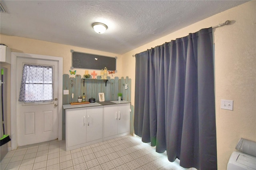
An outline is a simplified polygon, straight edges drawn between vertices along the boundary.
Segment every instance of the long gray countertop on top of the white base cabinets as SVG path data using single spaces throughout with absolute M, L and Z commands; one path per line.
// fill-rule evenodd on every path
M 81 104 L 81 105 L 62 105 L 63 109 L 74 109 L 80 107 L 94 107 L 94 106 L 104 106 L 104 105 L 115 105 L 115 104 L 123 104 L 123 103 L 131 103 L 129 101 L 102 101 L 102 102 L 95 102 L 89 104 Z

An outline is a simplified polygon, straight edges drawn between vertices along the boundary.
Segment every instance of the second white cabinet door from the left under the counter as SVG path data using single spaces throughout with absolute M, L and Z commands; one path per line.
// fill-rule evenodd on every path
M 86 121 L 86 142 L 102 138 L 103 107 L 87 109 Z

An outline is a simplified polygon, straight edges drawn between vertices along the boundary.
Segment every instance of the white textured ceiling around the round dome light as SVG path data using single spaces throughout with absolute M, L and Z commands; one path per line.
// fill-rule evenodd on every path
M 0 15 L 1 34 L 123 54 L 247 1 L 2 2 L 7 13 Z M 226 20 L 232 18 L 223 18 Z M 102 22 L 108 29 L 97 34 L 92 28 L 94 22 Z

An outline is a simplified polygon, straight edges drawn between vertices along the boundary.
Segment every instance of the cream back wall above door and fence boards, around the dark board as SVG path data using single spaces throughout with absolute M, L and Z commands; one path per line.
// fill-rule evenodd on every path
M 83 53 L 92 53 L 96 55 L 104 55 L 108 57 L 118 57 L 117 59 L 117 73 L 114 74 L 114 77 L 120 77 L 122 75 L 121 63 L 122 56 L 114 53 L 107 53 L 104 51 L 97 51 L 93 49 L 86 49 L 81 47 L 74 47 L 71 45 L 64 45 L 59 43 L 45 42 L 40 40 L 33 40 L 29 38 L 21 38 L 15 36 L 6 36 L 0 35 L 0 42 L 8 45 L 8 47 L 13 52 L 20 53 L 32 53 L 32 54 L 40 54 L 40 55 L 50 55 L 55 57 L 63 58 L 63 74 L 69 74 L 69 70 L 71 67 L 71 49 L 74 51 L 79 51 Z M 76 70 L 76 74 L 81 76 L 84 75 L 85 69 L 74 69 Z M 89 74 L 94 71 L 89 70 Z M 100 75 L 99 70 L 95 70 L 98 75 Z M 74 75 L 70 75 L 70 77 L 74 77 Z

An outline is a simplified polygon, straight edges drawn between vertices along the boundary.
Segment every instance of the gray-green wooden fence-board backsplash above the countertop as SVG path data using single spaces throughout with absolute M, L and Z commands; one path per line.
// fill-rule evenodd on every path
M 83 79 L 81 75 L 75 75 L 75 77 L 69 77 L 68 74 L 63 75 L 63 90 L 69 90 L 68 95 L 63 96 L 63 104 L 70 104 L 71 102 L 77 102 L 78 96 L 86 95 L 86 101 L 89 101 L 91 97 L 99 101 L 98 93 L 104 93 L 105 101 L 118 100 L 118 93 L 122 93 L 122 99 L 125 101 L 131 101 L 131 79 L 114 77 L 111 79 L 107 77 L 108 81 L 100 79 Z M 127 89 L 125 89 L 124 83 L 127 83 Z M 74 97 L 72 98 L 72 94 Z

